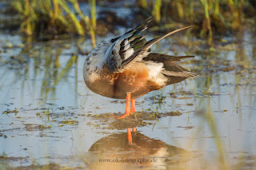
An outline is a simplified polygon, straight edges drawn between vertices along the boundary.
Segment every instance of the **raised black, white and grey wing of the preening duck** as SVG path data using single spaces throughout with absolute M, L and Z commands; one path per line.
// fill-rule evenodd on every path
M 111 39 L 113 42 L 110 48 L 106 51 L 106 65 L 113 73 L 120 73 L 128 69 L 136 61 L 141 61 L 143 57 L 148 56 L 150 47 L 156 42 L 159 42 L 167 36 L 177 33 L 181 30 L 186 30 L 193 26 L 187 26 L 178 30 L 174 30 L 161 37 L 154 38 L 146 42 L 145 37 L 139 35 L 143 30 L 147 29 L 151 19 L 147 19 L 142 25 L 137 26 L 134 30 L 130 30 L 121 37 Z

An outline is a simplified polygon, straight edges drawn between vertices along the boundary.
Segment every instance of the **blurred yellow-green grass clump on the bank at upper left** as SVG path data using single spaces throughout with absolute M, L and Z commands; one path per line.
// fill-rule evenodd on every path
M 95 0 L 91 0 L 91 16 L 82 13 L 78 0 L 18 0 L 11 6 L 20 16 L 20 30 L 27 35 L 73 33 L 84 36 L 86 30 L 95 45 Z M 71 10 L 73 9 L 73 10 Z M 78 16 L 77 16 L 78 14 Z

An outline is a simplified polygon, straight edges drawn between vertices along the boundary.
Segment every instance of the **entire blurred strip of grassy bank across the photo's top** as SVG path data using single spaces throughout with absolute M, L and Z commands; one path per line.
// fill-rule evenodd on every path
M 256 14 L 254 0 L 136 0 L 112 6 L 113 2 L 118 1 L 17 0 L 9 3 L 5 13 L 18 16 L 15 26 L 23 34 L 43 38 L 56 38 L 59 34 L 89 35 L 93 45 L 96 45 L 95 34 L 101 35 L 102 30 L 111 32 L 110 26 L 120 24 L 136 26 L 150 16 L 157 26 L 154 30 L 158 31 L 170 31 L 183 25 L 198 26 L 194 30 L 196 35 L 212 45 L 214 35 L 237 33 L 247 24 L 254 24 Z M 82 3 L 89 6 L 87 11 L 80 6 Z M 120 18 L 109 10 L 105 11 L 108 17 L 101 17 L 101 12 L 96 13 L 96 3 L 110 9 L 126 6 L 133 13 Z M 96 26 L 97 22 L 103 24 Z

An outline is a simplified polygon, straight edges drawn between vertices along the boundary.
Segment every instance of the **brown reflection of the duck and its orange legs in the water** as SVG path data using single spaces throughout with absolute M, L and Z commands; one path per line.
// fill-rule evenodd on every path
M 89 152 L 94 161 L 91 169 L 165 169 L 167 165 L 190 160 L 190 152 L 185 149 L 142 135 L 136 128 L 103 137 Z

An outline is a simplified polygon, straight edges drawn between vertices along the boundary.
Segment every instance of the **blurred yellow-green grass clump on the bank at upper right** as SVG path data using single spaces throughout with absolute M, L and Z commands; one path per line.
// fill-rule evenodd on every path
M 137 0 L 141 10 L 154 17 L 159 30 L 187 23 L 198 26 L 201 38 L 212 45 L 215 34 L 227 34 L 241 30 L 247 20 L 256 14 L 256 6 L 250 0 Z M 250 11 L 250 12 L 249 12 Z M 170 24 L 171 23 L 171 24 Z

